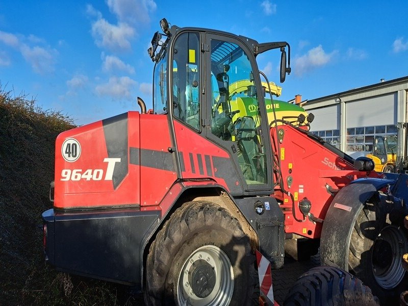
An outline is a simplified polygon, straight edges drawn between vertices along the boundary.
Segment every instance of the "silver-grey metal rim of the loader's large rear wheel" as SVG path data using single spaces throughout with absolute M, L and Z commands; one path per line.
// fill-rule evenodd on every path
M 220 248 L 202 246 L 184 262 L 177 281 L 179 305 L 228 305 L 233 292 L 233 266 Z

